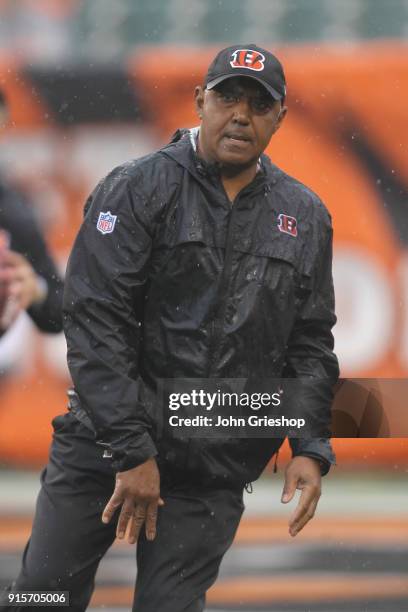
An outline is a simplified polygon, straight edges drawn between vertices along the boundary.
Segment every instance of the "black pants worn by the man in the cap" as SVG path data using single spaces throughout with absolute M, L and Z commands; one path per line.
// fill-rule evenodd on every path
M 75 417 L 59 416 L 53 424 L 32 534 L 12 590 L 70 591 L 69 609 L 81 612 L 89 604 L 98 564 L 115 539 L 116 521 L 101 522 L 115 476 L 102 447 Z M 132 610 L 200 612 L 238 527 L 242 488 L 202 486 L 164 473 L 161 495 L 165 505 L 156 539 L 148 542 L 142 532 L 137 544 Z

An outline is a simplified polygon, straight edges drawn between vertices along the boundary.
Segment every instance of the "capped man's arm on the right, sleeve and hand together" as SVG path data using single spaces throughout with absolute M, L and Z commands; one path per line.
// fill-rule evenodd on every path
M 298 315 L 286 353 L 285 376 L 300 378 L 300 392 L 305 394 L 304 417 L 317 417 L 320 428 L 330 432 L 333 386 L 339 376 L 333 352 L 332 327 L 334 289 L 332 279 L 332 229 L 325 215 L 320 228 L 316 259 L 310 266 L 308 283 L 299 299 Z M 302 405 L 302 398 L 300 400 Z M 296 535 L 313 517 L 321 492 L 321 476 L 335 462 L 329 438 L 290 438 L 293 459 L 286 468 L 283 503 L 296 491 L 302 494 L 291 519 L 290 533 Z

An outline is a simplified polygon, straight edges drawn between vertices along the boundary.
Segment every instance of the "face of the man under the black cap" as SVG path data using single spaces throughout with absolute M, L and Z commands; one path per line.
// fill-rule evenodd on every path
M 286 114 L 280 101 L 247 77 L 231 77 L 211 90 L 197 87 L 195 95 L 201 153 L 227 167 L 256 163 Z

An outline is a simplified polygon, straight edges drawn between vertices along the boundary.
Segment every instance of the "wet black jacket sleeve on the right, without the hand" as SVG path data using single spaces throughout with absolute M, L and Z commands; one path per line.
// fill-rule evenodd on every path
M 316 228 L 315 228 L 316 229 Z M 319 241 L 316 257 L 310 264 L 310 275 L 300 290 L 297 318 L 289 338 L 285 375 L 301 378 L 299 398 L 307 414 L 319 422 L 319 429 L 327 431 L 325 438 L 291 438 L 294 456 L 313 457 L 326 474 L 335 456 L 331 448 L 330 425 L 333 386 L 339 376 L 337 357 L 333 352 L 332 327 L 334 289 L 332 279 L 332 229 L 320 226 L 323 239 Z M 306 278 L 306 277 L 305 277 Z M 324 434 L 326 435 L 326 433 Z

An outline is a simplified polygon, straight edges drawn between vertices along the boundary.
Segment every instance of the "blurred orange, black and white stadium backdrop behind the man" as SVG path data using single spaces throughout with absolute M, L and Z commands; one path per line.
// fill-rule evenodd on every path
M 196 123 L 214 52 L 257 42 L 282 59 L 288 120 L 269 154 L 327 203 L 342 375 L 408 377 L 408 0 L 0 0 L 0 169 L 24 189 L 64 269 L 83 203 L 114 165 Z M 0 586 L 29 532 L 63 337 L 22 316 L 0 341 Z M 404 409 L 404 405 L 402 405 Z M 406 408 L 405 408 L 406 409 Z M 248 496 L 214 610 L 408 609 L 408 444 L 337 439 L 320 512 L 294 541 L 282 465 Z M 128 609 L 131 549 L 101 566 L 95 609 Z M 176 611 L 175 611 L 176 612 Z

